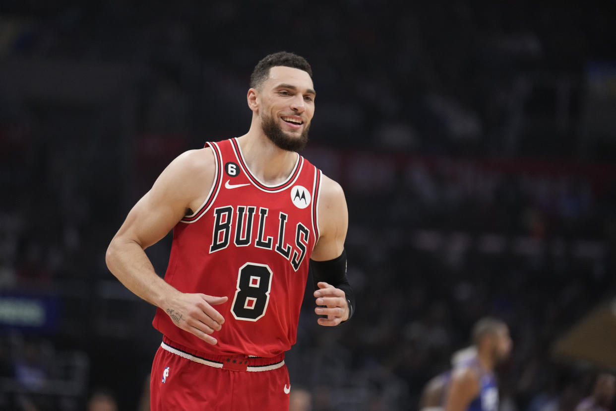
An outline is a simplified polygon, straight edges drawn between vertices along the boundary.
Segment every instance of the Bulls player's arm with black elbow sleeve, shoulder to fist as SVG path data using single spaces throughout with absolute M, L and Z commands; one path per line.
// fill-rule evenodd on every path
M 310 256 L 314 278 L 315 312 L 322 315 L 318 324 L 332 327 L 351 318 L 355 297 L 346 276 L 344 239 L 349 226 L 349 212 L 342 187 L 323 176 L 318 200 L 320 237 Z

